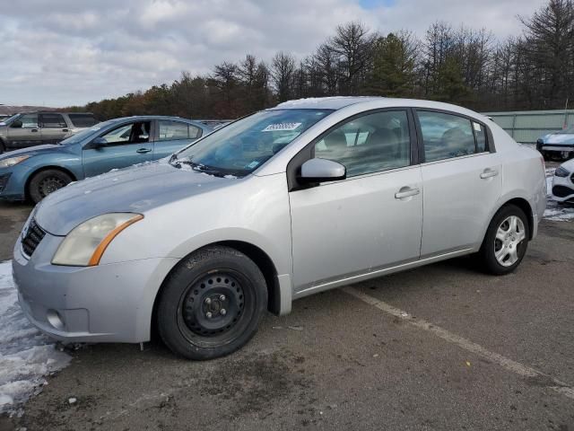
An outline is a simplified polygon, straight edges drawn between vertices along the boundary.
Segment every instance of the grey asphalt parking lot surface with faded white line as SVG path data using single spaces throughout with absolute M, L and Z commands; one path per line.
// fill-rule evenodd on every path
M 29 212 L 0 204 L 0 261 Z M 573 269 L 574 223 L 543 221 L 514 274 L 469 257 L 311 296 L 222 359 L 83 347 L 0 429 L 574 430 Z

